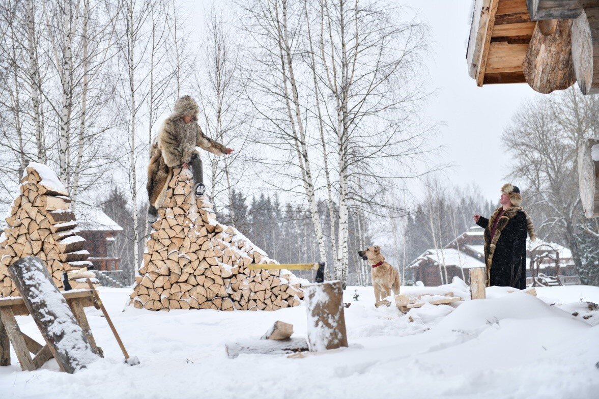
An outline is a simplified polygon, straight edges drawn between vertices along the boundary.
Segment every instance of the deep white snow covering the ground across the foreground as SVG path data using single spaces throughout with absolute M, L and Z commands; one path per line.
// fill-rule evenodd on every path
M 359 300 L 353 301 L 357 289 Z M 403 293 L 416 287 L 402 287 Z M 456 290 L 459 291 L 459 290 Z M 128 307 L 127 289 L 101 297 L 130 355 L 122 354 L 99 310 L 86 309 L 105 358 L 75 374 L 52 360 L 43 369 L 0 367 L 0 398 L 597 398 L 599 325 L 559 304 L 599 303 L 599 287 L 537 288 L 539 297 L 488 289 L 488 299 L 425 306 L 409 322 L 394 307 L 374 307 L 371 288 L 350 287 L 345 300 L 350 347 L 300 359 L 240 355 L 225 343 L 261 337 L 274 321 L 306 334 L 303 306 L 277 312 Z M 456 293 L 456 295 L 459 295 Z M 550 305 L 550 303 L 556 303 Z M 569 306 L 569 307 L 568 307 Z M 568 305 L 574 309 L 579 305 Z M 595 318 L 598 316 L 595 316 Z M 17 317 L 41 341 L 30 317 Z

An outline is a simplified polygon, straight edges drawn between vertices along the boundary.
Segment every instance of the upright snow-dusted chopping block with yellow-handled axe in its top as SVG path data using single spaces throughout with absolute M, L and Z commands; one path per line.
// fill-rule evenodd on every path
M 341 282 L 308 285 L 304 292 L 310 352 L 347 346 Z

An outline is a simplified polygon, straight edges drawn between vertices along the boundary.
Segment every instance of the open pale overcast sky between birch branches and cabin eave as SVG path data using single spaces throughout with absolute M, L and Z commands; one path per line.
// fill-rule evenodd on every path
M 408 0 L 407 4 L 431 29 L 429 75 L 438 89 L 428 113 L 444 122 L 440 129 L 440 140 L 447 146 L 444 158 L 456 165 L 448 176 L 457 185 L 475 182 L 486 197 L 498 200 L 511 161 L 501 145 L 501 133 L 519 105 L 536 92 L 526 83 L 477 87 L 468 76 L 470 0 Z

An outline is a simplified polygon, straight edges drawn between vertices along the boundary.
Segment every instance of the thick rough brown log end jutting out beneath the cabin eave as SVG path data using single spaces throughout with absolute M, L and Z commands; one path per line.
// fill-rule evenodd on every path
M 552 35 L 541 32 L 541 22 L 534 28 L 522 71 L 528 85 L 539 93 L 564 90 L 576 81 L 571 52 L 571 26 L 570 19 L 556 21 Z

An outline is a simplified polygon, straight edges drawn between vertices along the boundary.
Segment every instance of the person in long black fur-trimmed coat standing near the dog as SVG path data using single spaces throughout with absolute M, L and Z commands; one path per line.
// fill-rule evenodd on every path
M 526 234 L 535 240 L 533 222 L 520 206 L 520 189 L 506 184 L 501 188 L 501 206 L 490 219 L 479 214 L 474 222 L 485 229 L 486 285 L 526 288 Z

